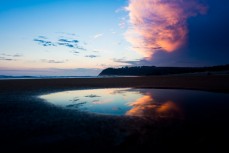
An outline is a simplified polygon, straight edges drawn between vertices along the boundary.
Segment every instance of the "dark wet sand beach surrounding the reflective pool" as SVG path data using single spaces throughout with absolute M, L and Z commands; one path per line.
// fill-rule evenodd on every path
M 54 91 L 144 87 L 229 92 L 229 76 L 0 80 L 0 152 L 222 152 L 228 114 L 183 120 L 94 115 L 37 98 Z M 225 108 L 228 109 L 228 108 Z M 219 112 L 220 113 L 220 112 Z M 207 115 L 207 114 L 206 114 Z

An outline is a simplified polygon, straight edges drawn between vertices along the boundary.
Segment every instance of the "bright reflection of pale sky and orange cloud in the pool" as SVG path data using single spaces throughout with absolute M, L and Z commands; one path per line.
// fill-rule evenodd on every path
M 137 117 L 177 117 L 179 106 L 159 89 L 93 89 L 58 92 L 40 98 L 67 109 Z M 169 97 L 168 97 L 169 98 Z

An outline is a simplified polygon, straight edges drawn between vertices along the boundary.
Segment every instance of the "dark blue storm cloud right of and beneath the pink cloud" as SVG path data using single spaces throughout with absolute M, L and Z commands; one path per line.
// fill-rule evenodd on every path
M 229 63 L 229 1 L 202 0 L 205 15 L 187 20 L 187 43 L 174 52 L 155 52 L 151 60 L 119 60 L 130 65 L 211 66 Z M 160 50 L 160 48 L 157 48 Z

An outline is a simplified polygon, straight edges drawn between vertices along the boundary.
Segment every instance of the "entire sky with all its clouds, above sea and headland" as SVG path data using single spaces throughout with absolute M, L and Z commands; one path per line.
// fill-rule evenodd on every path
M 228 0 L 0 0 L 0 75 L 229 62 Z

